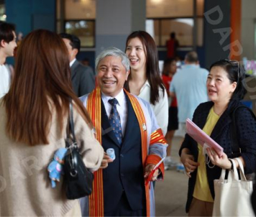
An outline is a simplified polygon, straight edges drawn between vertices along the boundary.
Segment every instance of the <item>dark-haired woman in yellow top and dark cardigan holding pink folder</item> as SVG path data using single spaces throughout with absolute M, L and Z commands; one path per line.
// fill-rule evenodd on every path
M 221 169 L 232 169 L 228 160 L 232 158 L 232 112 L 242 105 L 239 101 L 246 93 L 244 78 L 244 70 L 237 61 L 221 60 L 210 67 L 206 83 L 210 101 L 196 108 L 193 121 L 223 147 L 223 155 L 219 157 L 214 149 L 207 148 L 208 163 L 205 163 L 201 145 L 188 134 L 185 135 L 179 154 L 190 177 L 186 204 L 188 216 L 212 216 L 213 180 L 219 179 Z M 241 149 L 239 158 L 245 174 L 250 174 L 255 171 L 256 165 L 256 121 L 246 107 L 239 107 L 235 112 L 235 124 L 237 143 Z M 238 168 L 238 162 L 235 162 Z

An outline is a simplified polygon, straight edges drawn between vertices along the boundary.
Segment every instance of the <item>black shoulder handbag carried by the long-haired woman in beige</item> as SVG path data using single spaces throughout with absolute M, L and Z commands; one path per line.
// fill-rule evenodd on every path
M 93 189 L 93 173 L 89 171 L 82 161 L 80 150 L 75 139 L 73 122 L 73 104 L 69 104 L 69 127 L 66 136 L 66 156 L 64 157 L 64 183 L 66 184 L 66 197 L 69 200 L 89 196 Z M 71 136 L 70 131 L 71 130 Z

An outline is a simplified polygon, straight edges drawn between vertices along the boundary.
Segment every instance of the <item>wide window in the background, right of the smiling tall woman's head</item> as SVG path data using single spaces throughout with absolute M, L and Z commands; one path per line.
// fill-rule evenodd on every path
M 147 0 L 146 31 L 159 47 L 165 47 L 170 33 L 176 33 L 181 47 L 193 46 L 194 0 Z M 203 3 L 196 0 L 196 45 L 203 45 Z

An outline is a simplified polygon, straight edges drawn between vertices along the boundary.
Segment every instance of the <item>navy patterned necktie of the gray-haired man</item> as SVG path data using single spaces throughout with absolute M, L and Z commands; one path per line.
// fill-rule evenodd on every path
M 113 129 L 114 134 L 116 135 L 116 138 L 118 139 L 118 142 L 122 144 L 122 127 L 120 116 L 116 108 L 116 104 L 118 104 L 118 101 L 116 98 L 113 98 L 109 99 L 109 103 L 112 105 L 112 109 L 109 116 L 109 123 Z

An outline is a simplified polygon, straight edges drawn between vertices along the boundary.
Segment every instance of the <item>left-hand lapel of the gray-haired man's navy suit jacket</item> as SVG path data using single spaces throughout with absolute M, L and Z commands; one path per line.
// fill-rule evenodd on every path
M 111 140 L 113 141 L 113 143 L 115 145 L 117 145 L 118 147 L 120 147 L 120 144 L 118 143 L 118 139 L 116 138 L 115 134 L 113 133 L 112 127 L 109 123 L 109 117 L 107 116 L 107 112 L 105 110 L 104 107 L 104 103 L 101 100 L 101 114 L 102 114 L 102 136 L 109 136 L 109 138 L 111 138 Z

